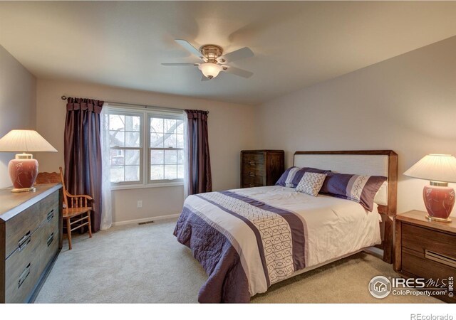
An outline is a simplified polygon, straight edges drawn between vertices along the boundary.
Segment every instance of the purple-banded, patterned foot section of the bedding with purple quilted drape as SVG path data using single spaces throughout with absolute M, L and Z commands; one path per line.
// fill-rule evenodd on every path
M 213 205 L 210 209 L 208 203 Z M 213 212 L 209 215 L 205 210 Z M 174 235 L 190 247 L 209 276 L 199 290 L 199 302 L 249 302 L 257 293 L 252 283 L 249 286 L 249 265 L 255 263 L 244 257 L 245 239 L 230 233 L 232 224 L 224 225 L 223 219 L 214 218 L 217 215 L 232 215 L 236 223 L 245 223 L 252 230 L 261 259 L 256 265 L 261 265 L 266 287 L 306 266 L 306 225 L 295 213 L 232 191 L 189 196 Z

